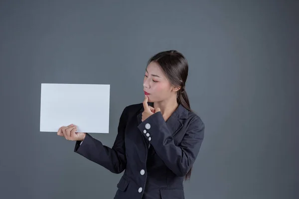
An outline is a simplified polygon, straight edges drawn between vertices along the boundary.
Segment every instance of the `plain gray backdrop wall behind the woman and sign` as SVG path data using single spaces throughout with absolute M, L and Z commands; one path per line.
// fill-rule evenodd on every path
M 121 174 L 39 132 L 40 84 L 110 84 L 92 136 L 112 146 L 147 60 L 176 49 L 206 124 L 186 199 L 298 199 L 298 2 L 1 0 L 0 198 L 112 199 Z

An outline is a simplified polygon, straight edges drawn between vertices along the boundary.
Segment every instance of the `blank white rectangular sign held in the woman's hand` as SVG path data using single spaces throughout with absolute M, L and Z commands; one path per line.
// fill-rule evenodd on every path
M 77 132 L 109 132 L 110 85 L 41 84 L 40 131 L 75 124 Z

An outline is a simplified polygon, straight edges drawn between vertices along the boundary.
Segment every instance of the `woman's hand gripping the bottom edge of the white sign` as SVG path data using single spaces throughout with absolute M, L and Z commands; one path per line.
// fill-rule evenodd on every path
M 57 135 L 64 136 L 65 139 L 71 141 L 83 141 L 86 133 L 76 132 L 77 126 L 70 124 L 68 126 L 61 126 L 57 131 Z

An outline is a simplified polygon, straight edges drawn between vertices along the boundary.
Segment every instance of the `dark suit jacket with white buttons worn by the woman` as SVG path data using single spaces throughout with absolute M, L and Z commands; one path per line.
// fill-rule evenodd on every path
M 112 148 L 87 133 L 74 151 L 112 173 L 125 170 L 114 199 L 184 199 L 183 177 L 199 153 L 204 123 L 181 104 L 166 122 L 161 112 L 142 122 L 143 111 L 143 103 L 124 108 Z

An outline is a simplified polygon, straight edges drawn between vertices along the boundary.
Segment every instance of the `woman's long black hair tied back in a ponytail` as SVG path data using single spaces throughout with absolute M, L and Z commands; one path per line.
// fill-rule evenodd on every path
M 176 50 L 168 50 L 159 52 L 152 56 L 148 61 L 148 65 L 150 62 L 155 62 L 161 67 L 170 84 L 181 87 L 180 90 L 177 91 L 177 103 L 192 111 L 188 95 L 185 91 L 185 83 L 188 76 L 188 62 L 186 58 Z M 191 170 L 192 167 L 184 176 L 185 180 L 190 179 Z

